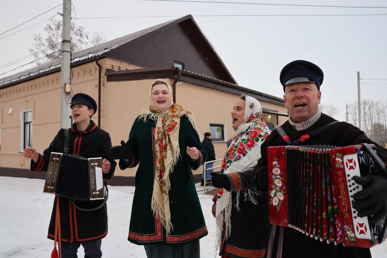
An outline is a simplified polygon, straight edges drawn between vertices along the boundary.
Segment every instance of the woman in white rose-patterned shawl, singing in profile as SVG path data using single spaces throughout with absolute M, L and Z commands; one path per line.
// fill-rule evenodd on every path
M 269 203 L 267 193 L 256 191 L 255 167 L 261 144 L 270 134 L 262 120 L 258 100 L 241 95 L 231 111 L 235 130 L 224 155 L 221 174 L 211 173 L 219 187 L 212 205 L 216 217 L 217 248 L 222 258 L 264 257 L 269 237 L 269 214 L 261 209 Z

